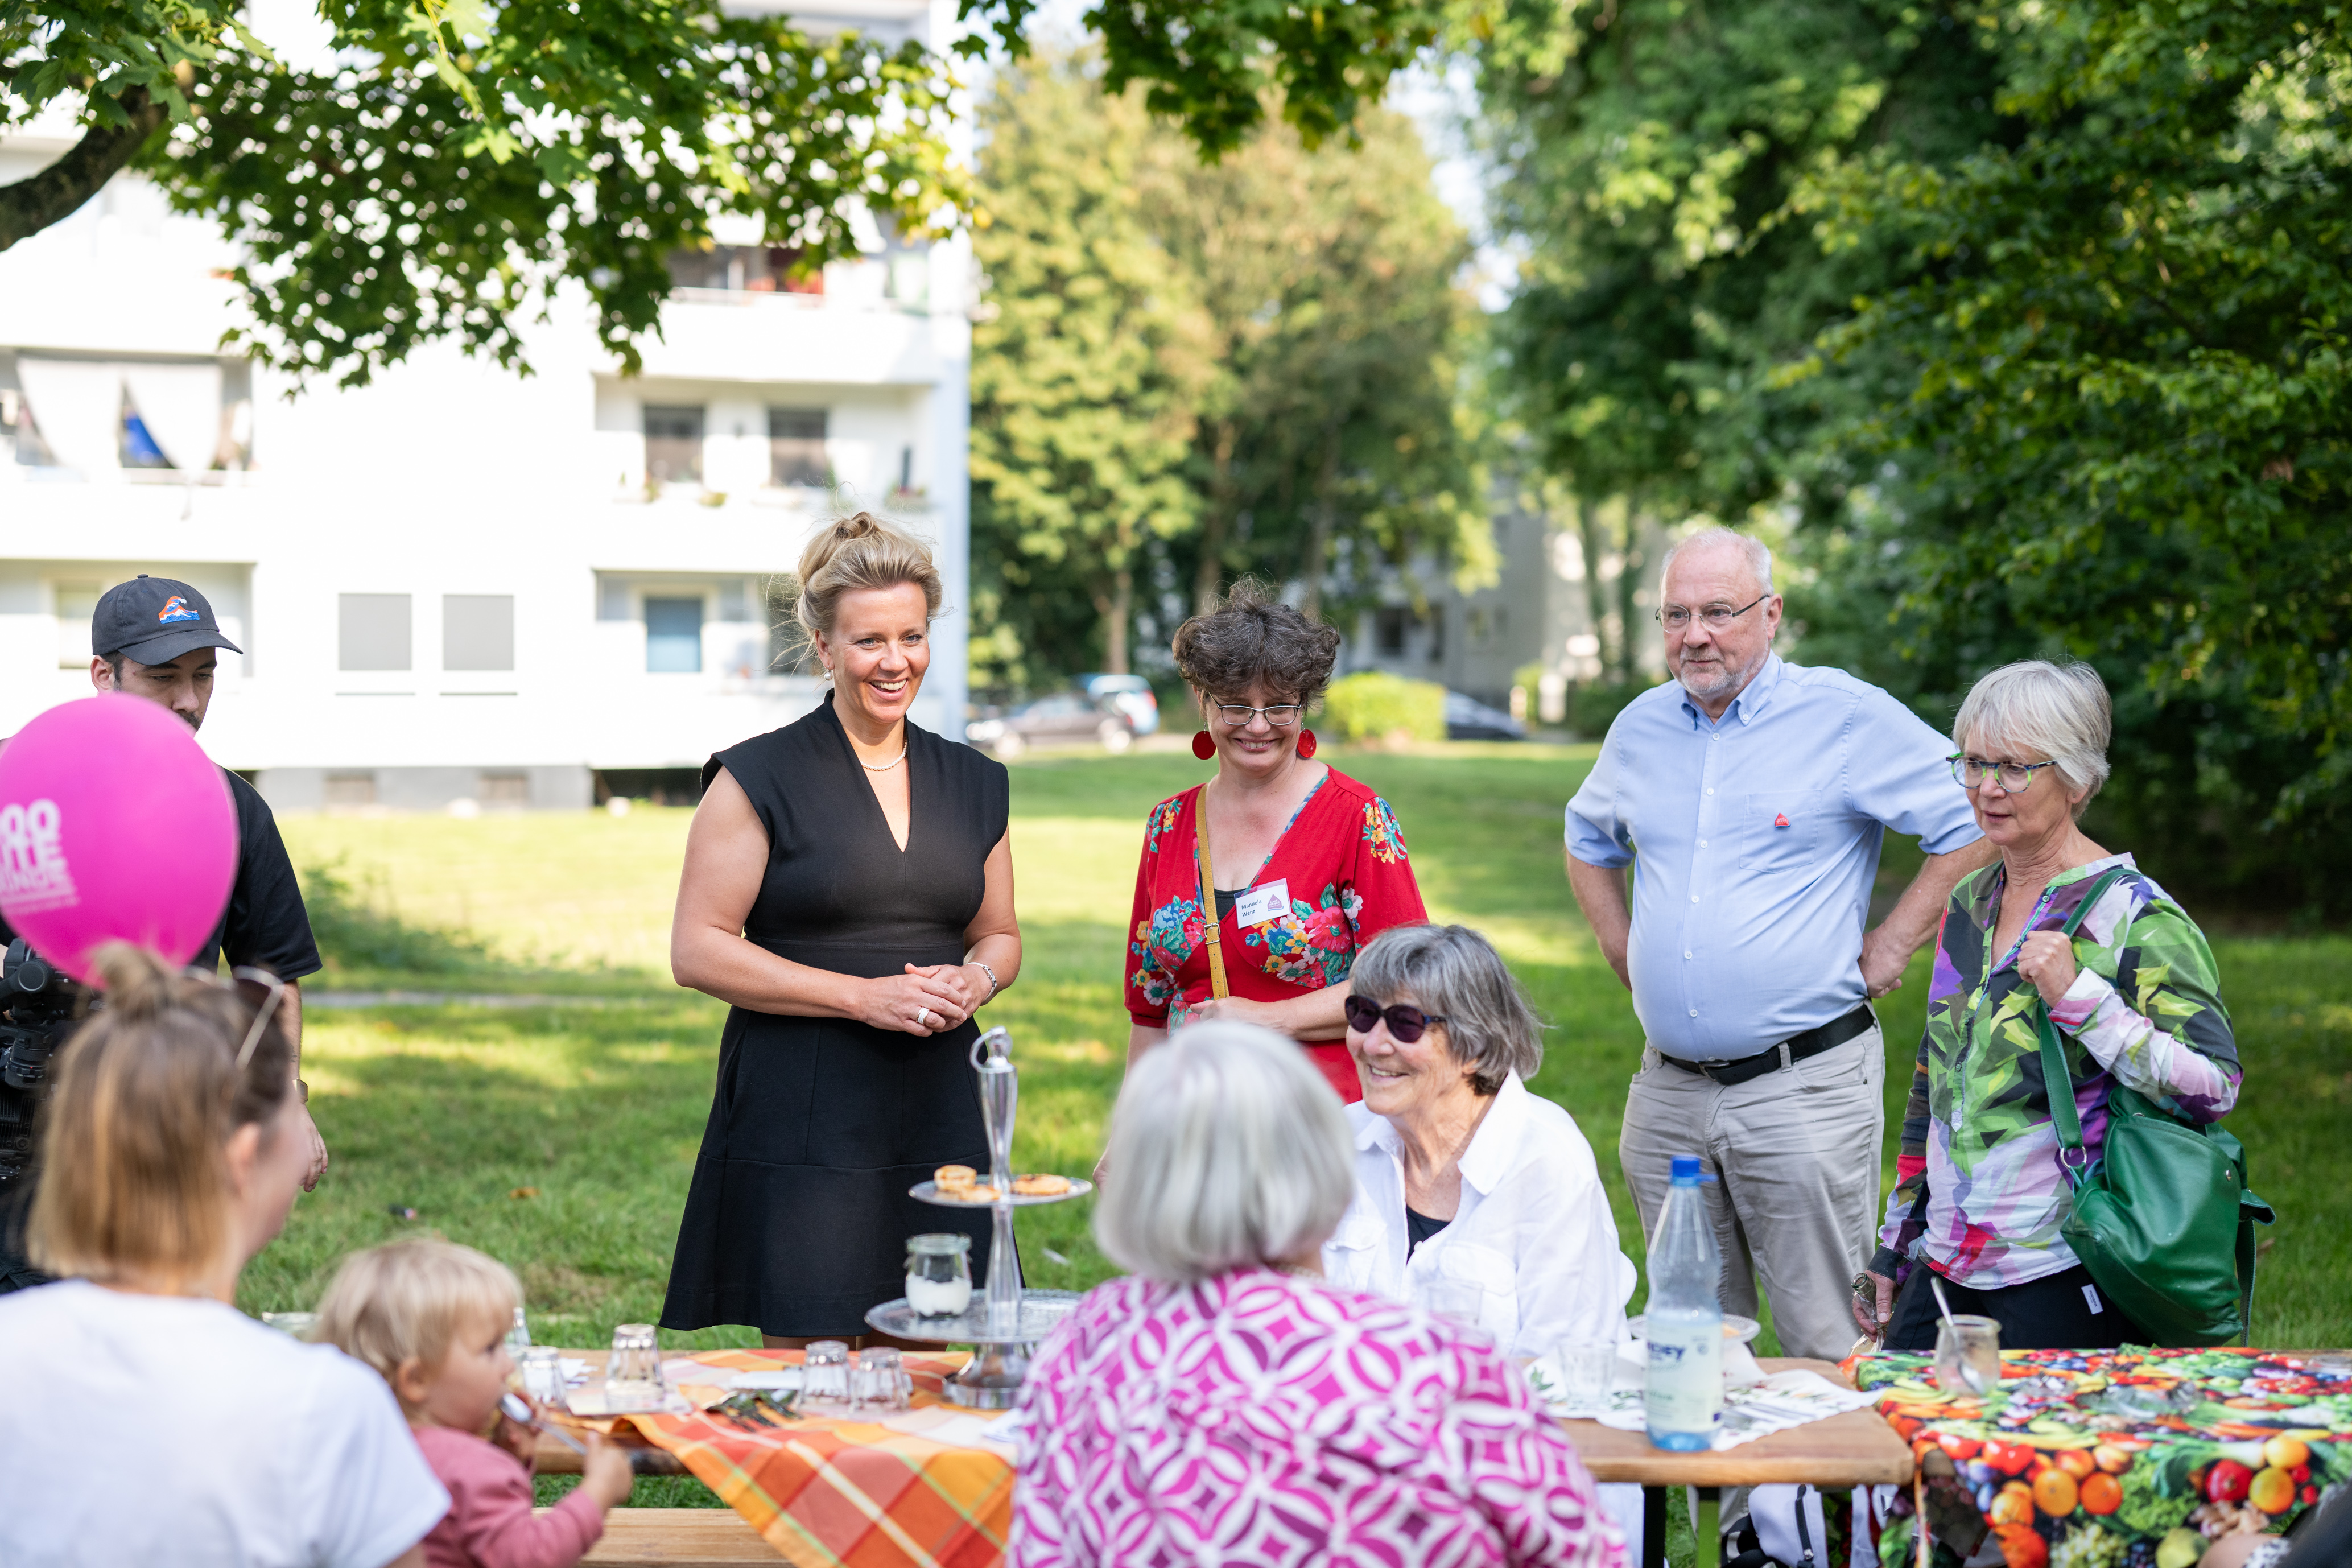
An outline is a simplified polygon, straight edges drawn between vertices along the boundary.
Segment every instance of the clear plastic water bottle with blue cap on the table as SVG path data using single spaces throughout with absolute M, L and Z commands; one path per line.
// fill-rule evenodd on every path
M 1649 1307 L 1642 1312 L 1649 1441 L 1684 1453 L 1715 1446 L 1724 1410 L 1724 1258 L 1700 1180 L 1708 1178 L 1698 1173 L 1698 1157 L 1677 1154 L 1675 1185 L 1665 1192 L 1658 1234 L 1649 1239 Z

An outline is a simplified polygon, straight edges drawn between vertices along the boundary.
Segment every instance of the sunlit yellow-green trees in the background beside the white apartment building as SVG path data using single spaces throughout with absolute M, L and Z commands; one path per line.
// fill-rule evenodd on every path
M 1002 684 L 1112 668 L 1242 574 L 1336 611 L 1418 552 L 1491 569 L 1465 244 L 1418 134 L 1270 122 L 1202 167 L 1141 99 L 1089 54 L 983 110 L 974 668 Z

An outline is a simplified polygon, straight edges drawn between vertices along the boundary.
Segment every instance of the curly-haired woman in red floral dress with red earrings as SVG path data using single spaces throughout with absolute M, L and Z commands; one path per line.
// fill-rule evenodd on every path
M 1176 668 L 1207 722 L 1192 755 L 1216 757 L 1216 778 L 1152 806 L 1143 827 L 1127 945 L 1129 1065 L 1171 1027 L 1223 1018 L 1289 1034 L 1341 1100 L 1362 1098 L 1345 1046 L 1348 971 L 1376 933 L 1428 917 L 1397 813 L 1312 759 L 1305 710 L 1336 656 L 1336 630 L 1247 581 L 1176 630 Z

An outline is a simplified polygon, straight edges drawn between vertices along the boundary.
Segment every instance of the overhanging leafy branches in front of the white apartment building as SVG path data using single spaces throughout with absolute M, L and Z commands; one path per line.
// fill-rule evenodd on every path
M 816 268 L 856 249 L 858 207 L 924 230 L 962 193 L 948 82 L 913 42 L 816 40 L 715 0 L 322 14 L 336 59 L 303 71 L 221 0 L 0 0 L 0 129 L 52 108 L 85 127 L 0 188 L 0 247 L 134 165 L 245 247 L 245 346 L 355 386 L 433 339 L 522 367 L 524 322 L 562 289 L 635 369 L 668 254 L 720 214 Z

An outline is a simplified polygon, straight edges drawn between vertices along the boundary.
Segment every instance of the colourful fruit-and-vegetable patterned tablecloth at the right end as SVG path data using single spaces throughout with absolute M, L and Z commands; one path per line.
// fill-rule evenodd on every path
M 2352 1356 L 2270 1349 L 2011 1349 L 1983 1399 L 1931 1356 L 1860 1354 L 1858 1389 L 1922 1460 L 1943 1448 L 2009 1568 L 2187 1568 L 2277 1530 L 2352 1479 Z M 1915 1512 L 1879 1537 L 1915 1561 Z

